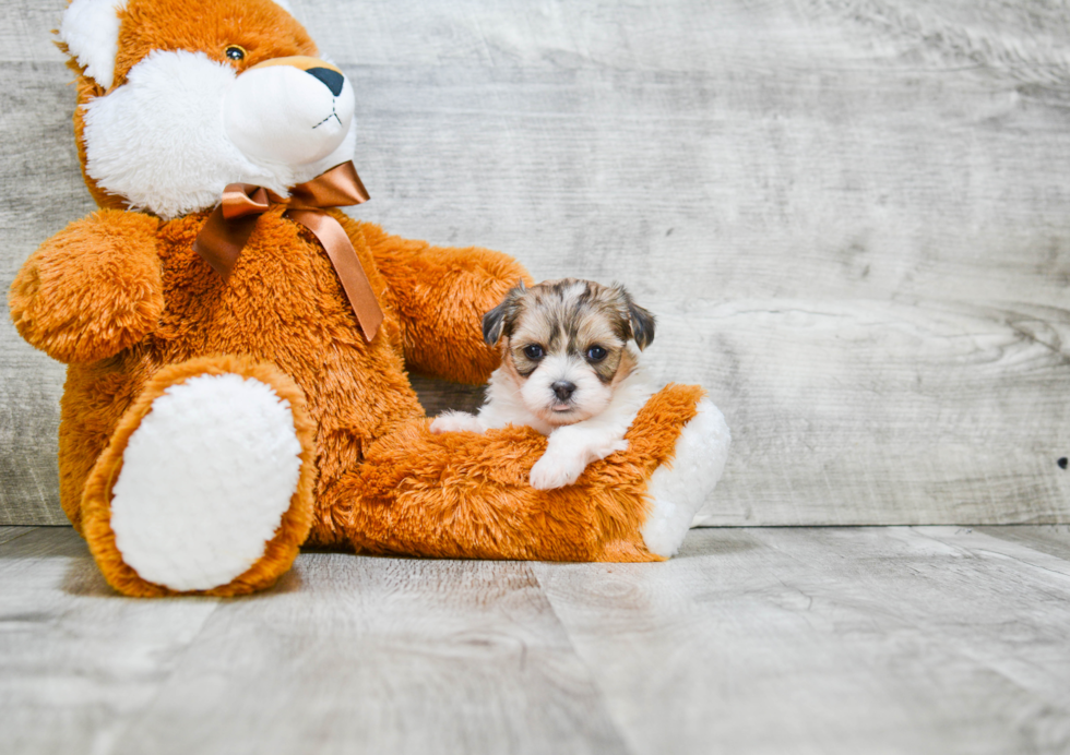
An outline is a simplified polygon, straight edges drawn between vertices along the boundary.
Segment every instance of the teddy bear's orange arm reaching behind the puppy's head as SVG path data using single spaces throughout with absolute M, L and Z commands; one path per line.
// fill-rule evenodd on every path
M 432 247 L 371 224 L 362 224 L 362 231 L 401 320 L 408 368 L 460 383 L 485 383 L 500 357 L 483 339 L 483 315 L 518 281 L 531 284 L 527 271 L 489 249 Z

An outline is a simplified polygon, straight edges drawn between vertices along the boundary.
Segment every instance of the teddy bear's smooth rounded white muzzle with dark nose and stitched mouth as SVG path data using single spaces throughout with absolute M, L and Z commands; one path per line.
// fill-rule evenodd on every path
M 337 67 L 305 56 L 275 58 L 235 80 L 224 125 L 247 156 L 300 166 L 338 148 L 354 107 L 353 87 Z

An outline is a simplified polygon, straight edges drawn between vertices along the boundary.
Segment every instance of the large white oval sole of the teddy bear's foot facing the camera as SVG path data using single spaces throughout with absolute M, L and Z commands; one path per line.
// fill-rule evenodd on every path
M 130 436 L 112 488 L 123 561 L 173 590 L 226 585 L 275 536 L 300 453 L 289 403 L 265 383 L 200 375 L 168 387 Z

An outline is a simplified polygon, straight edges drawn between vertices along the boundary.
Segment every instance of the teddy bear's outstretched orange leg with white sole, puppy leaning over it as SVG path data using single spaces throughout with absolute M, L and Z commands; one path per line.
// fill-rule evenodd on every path
M 728 429 L 697 386 L 655 394 L 628 447 L 570 486 L 536 490 L 546 439 L 531 428 L 380 439 L 338 487 L 358 552 L 546 561 L 661 561 L 724 469 Z

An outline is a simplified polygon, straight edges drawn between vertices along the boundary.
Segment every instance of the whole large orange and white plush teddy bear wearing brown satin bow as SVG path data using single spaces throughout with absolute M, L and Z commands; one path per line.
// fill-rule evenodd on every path
M 58 43 L 99 206 L 19 272 L 68 365 L 60 502 L 128 596 L 272 585 L 302 544 L 657 561 L 722 474 L 724 418 L 669 385 L 628 447 L 534 490 L 530 428 L 429 431 L 411 371 L 487 380 L 482 315 L 531 277 L 353 219 L 355 95 L 283 2 L 72 0 Z

